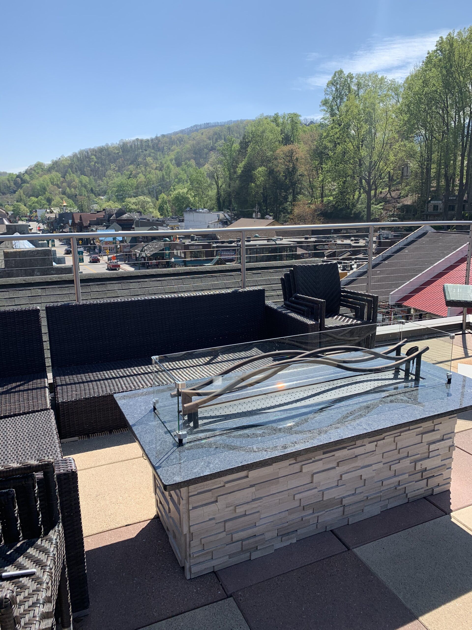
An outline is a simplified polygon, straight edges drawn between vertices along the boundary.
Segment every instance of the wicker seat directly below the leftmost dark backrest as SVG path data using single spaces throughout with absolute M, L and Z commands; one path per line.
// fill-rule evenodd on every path
M 0 418 L 50 407 L 46 372 L 0 379 Z

